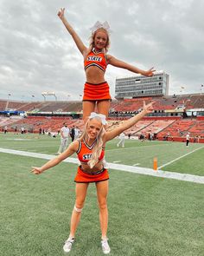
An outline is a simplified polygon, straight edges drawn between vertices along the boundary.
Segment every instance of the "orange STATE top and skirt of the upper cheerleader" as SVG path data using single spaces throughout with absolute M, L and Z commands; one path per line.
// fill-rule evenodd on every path
M 86 56 L 84 61 L 85 70 L 91 66 L 98 67 L 105 72 L 107 61 L 103 51 L 95 52 L 94 49 Z M 86 82 L 84 87 L 83 101 L 111 100 L 110 89 L 107 82 Z

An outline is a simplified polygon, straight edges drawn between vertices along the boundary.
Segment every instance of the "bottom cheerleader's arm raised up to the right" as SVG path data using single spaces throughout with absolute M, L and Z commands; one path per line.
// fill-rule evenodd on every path
M 143 118 L 144 115 L 151 113 L 153 110 L 153 104 L 154 102 L 150 102 L 146 105 L 145 102 L 143 102 L 143 110 L 139 114 L 128 119 L 127 121 L 124 121 L 121 125 L 118 126 L 118 128 L 115 128 L 110 132 L 106 132 L 103 138 L 104 142 L 112 140 L 113 138 L 124 132 L 126 129 L 131 128 L 133 125 L 135 125 L 137 121 L 140 121 Z

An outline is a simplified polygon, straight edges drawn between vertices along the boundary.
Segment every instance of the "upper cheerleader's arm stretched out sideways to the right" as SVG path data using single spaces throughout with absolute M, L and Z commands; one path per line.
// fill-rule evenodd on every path
M 109 64 L 111 64 L 114 67 L 121 68 L 121 69 L 127 69 L 133 73 L 137 73 L 137 74 L 141 74 L 141 75 L 152 76 L 152 75 L 154 75 L 153 72 L 156 71 L 154 68 L 151 68 L 146 71 L 143 69 L 138 69 L 137 67 L 132 66 L 126 62 L 120 61 L 117 58 L 110 56 L 110 55 L 107 55 L 107 61 Z

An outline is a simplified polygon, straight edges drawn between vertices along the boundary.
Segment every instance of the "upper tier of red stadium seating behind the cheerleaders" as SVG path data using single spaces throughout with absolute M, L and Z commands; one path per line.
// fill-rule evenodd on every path
M 144 97 L 137 99 L 124 99 L 118 101 L 112 101 L 111 110 L 118 112 L 137 111 L 143 107 L 143 101 L 155 102 L 154 108 L 156 111 L 162 110 L 174 110 L 183 105 L 184 108 L 204 108 L 204 95 L 171 95 L 163 97 Z M 6 108 L 31 111 L 38 109 L 40 112 L 54 112 L 61 110 L 62 112 L 81 112 L 82 102 L 17 102 L 0 100 L 0 111 L 6 110 Z

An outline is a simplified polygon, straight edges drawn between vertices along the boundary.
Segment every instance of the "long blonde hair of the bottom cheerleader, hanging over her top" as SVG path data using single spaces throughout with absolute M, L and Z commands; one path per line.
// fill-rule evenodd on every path
M 85 129 L 82 133 L 82 135 L 80 136 L 80 141 L 83 141 L 87 135 L 87 127 L 89 125 L 89 122 L 90 120 L 92 119 L 97 119 L 99 121 L 100 118 L 99 117 L 94 117 L 94 118 L 90 118 L 88 119 L 88 121 L 86 121 L 86 126 L 85 126 Z M 93 147 L 92 147 L 92 156 L 91 156 L 91 159 L 88 161 L 88 165 L 89 167 L 92 169 L 92 167 L 94 167 L 97 162 L 99 161 L 99 156 L 101 154 L 101 151 L 102 151 L 102 147 L 103 147 L 103 144 L 104 144 L 104 141 L 103 141 L 103 135 L 105 133 L 105 128 L 103 125 L 101 125 L 101 128 L 99 130 L 99 134 L 97 135 L 96 137 L 96 142 L 94 143 Z

